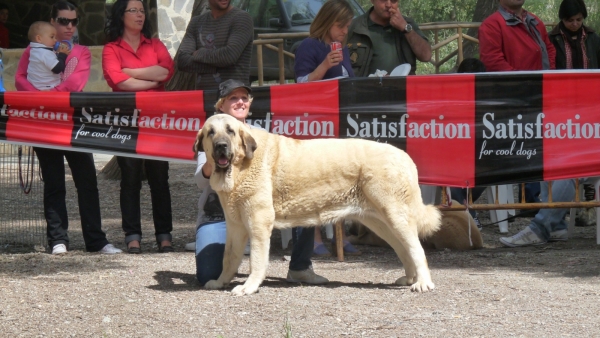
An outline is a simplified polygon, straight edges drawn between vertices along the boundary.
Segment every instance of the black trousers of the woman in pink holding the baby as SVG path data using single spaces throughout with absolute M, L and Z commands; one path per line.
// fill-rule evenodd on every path
M 65 244 L 69 247 L 69 219 L 65 201 L 65 162 L 67 159 L 73 182 L 77 189 L 81 231 L 87 251 L 99 251 L 106 244 L 102 231 L 100 199 L 94 157 L 90 153 L 76 151 L 33 148 L 40 162 L 44 179 L 44 217 L 47 224 L 48 245 Z

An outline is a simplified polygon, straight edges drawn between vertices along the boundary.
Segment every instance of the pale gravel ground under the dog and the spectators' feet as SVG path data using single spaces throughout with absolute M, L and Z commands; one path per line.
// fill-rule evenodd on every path
M 97 163 L 98 168 L 103 165 Z M 315 260 L 326 286 L 285 282 L 290 249 L 272 237 L 260 292 L 235 297 L 195 281 L 194 165 L 171 164 L 176 252 L 156 253 L 147 185 L 141 255 L 86 253 L 74 189 L 69 189 L 71 251 L 0 251 L 2 337 L 593 337 L 600 336 L 600 250 L 595 228 L 576 228 L 568 242 L 504 248 L 497 225 L 484 223 L 485 248 L 427 253 L 436 289 L 417 294 L 393 282 L 403 274 L 387 248 L 360 246 L 362 256 Z M 100 179 L 104 228 L 123 248 L 119 185 Z M 516 233 L 528 222 L 510 223 Z M 245 258 L 233 286 L 248 274 Z

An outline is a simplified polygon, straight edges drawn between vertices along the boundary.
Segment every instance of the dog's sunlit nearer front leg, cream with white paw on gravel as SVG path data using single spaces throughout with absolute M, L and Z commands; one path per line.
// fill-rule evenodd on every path
M 234 294 L 239 296 L 253 294 L 258 291 L 258 287 L 265 280 L 274 220 L 274 212 L 270 210 L 257 211 L 252 215 L 250 223 L 250 276 L 248 276 L 244 285 L 236 286 L 231 291 Z

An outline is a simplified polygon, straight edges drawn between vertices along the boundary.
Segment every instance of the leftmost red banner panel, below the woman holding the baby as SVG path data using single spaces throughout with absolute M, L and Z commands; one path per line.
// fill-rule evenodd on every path
M 8 141 L 70 146 L 73 108 L 70 93 L 5 92 Z

